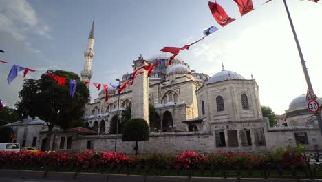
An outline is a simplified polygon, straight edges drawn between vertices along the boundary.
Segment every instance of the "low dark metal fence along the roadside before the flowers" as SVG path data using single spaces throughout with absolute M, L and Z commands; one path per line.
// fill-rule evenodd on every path
M 322 154 L 304 153 L 304 163 L 197 163 L 195 165 L 182 165 L 178 163 L 165 163 L 154 161 L 127 163 L 82 163 L 79 161 L 55 163 L 34 160 L 26 163 L 19 159 L 5 161 L 0 159 L 0 168 L 15 170 L 37 170 L 56 172 L 96 172 L 101 174 L 127 174 L 143 176 L 192 176 L 222 177 L 222 178 L 286 178 L 286 179 L 322 179 Z

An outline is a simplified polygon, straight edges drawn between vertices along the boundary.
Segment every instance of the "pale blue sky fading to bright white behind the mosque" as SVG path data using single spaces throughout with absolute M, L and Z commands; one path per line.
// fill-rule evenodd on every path
M 261 105 L 283 114 L 295 97 L 306 94 L 301 60 L 283 1 L 253 0 L 252 12 L 240 16 L 233 0 L 217 0 L 230 17 L 219 26 L 205 0 L 2 0 L 0 1 L 0 99 L 10 107 L 18 101 L 23 76 L 8 85 L 12 64 L 32 68 L 27 78 L 39 79 L 46 70 L 81 74 L 83 51 L 95 17 L 95 83 L 117 84 L 131 72 L 133 60 L 149 59 L 164 46 L 181 47 L 200 39 L 203 30 L 219 30 L 180 52 L 192 70 L 212 76 L 222 70 L 254 79 Z M 322 4 L 287 0 L 314 92 L 322 97 Z M 98 92 L 92 86 L 92 99 Z

